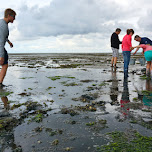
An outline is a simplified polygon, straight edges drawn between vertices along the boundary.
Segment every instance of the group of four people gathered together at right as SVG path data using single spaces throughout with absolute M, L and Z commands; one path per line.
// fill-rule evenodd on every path
M 133 29 L 127 29 L 126 35 L 123 37 L 122 42 L 119 40 L 118 35 L 120 34 L 121 29 L 117 28 L 116 31 L 111 35 L 111 48 L 112 48 L 112 59 L 111 66 L 117 68 L 117 58 L 119 57 L 119 45 L 122 44 L 122 54 L 124 59 L 124 78 L 128 77 L 128 66 L 130 62 L 131 51 L 135 48 L 136 51 L 133 53 L 135 55 L 139 48 L 142 48 L 142 54 L 144 54 L 147 61 L 146 66 L 146 75 L 152 78 L 152 41 L 147 37 L 140 37 L 136 35 L 134 40 L 139 42 L 138 46 L 132 46 L 132 35 L 134 34 Z

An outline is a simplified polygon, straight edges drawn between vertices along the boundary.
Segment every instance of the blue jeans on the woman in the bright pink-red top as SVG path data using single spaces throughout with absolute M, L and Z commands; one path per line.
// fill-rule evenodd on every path
M 128 66 L 130 62 L 130 51 L 123 51 L 124 58 L 124 76 L 128 77 Z

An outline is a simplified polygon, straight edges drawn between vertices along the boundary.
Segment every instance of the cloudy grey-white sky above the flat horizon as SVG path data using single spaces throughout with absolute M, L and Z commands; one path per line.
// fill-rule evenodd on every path
M 8 53 L 106 53 L 110 37 L 129 28 L 152 39 L 151 0 L 0 0 L 0 18 L 6 8 L 17 16 L 9 23 Z M 121 52 L 121 49 L 120 49 Z

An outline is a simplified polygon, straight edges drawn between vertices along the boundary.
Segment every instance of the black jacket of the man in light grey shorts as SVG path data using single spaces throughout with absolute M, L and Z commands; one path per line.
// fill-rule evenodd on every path
M 111 47 L 119 49 L 119 44 L 122 44 L 122 42 L 118 38 L 118 34 L 115 32 L 111 35 Z

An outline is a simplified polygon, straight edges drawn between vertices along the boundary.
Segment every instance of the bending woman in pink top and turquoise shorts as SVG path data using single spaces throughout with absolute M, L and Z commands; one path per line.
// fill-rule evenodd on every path
M 144 53 L 145 59 L 147 61 L 146 75 L 149 76 L 151 74 L 151 78 L 152 78 L 152 64 L 151 64 L 151 61 L 152 61 L 152 46 L 151 45 L 140 44 L 138 46 L 132 47 L 131 49 L 133 50 L 134 48 L 142 48 L 143 49 L 143 53 Z M 136 54 L 136 52 L 134 54 Z

